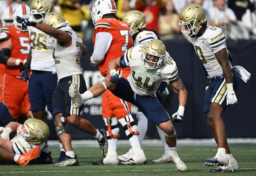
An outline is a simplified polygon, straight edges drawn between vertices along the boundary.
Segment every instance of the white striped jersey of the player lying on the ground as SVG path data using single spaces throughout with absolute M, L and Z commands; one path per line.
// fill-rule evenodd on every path
M 10 141 L 12 142 L 12 150 L 14 151 L 14 153 L 19 154 L 19 155 L 22 155 L 23 153 L 26 153 L 29 150 L 35 148 L 35 146 L 37 146 L 34 144 L 30 144 L 29 142 L 26 142 L 25 139 L 23 139 L 22 137 L 20 137 L 18 135 L 16 135 Z M 45 145 L 45 142 L 38 145 L 40 147 L 40 150 L 42 150 L 44 145 Z

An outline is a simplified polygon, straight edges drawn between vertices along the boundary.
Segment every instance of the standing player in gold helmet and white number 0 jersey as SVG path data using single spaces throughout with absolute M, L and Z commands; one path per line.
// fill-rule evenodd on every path
M 204 165 L 219 166 L 210 172 L 238 170 L 239 165 L 232 156 L 227 143 L 225 125 L 222 114 L 227 105 L 236 104 L 235 90 L 239 85 L 239 76 L 244 82 L 250 79 L 241 66 L 232 66 L 226 38 L 221 28 L 207 26 L 207 18 L 202 7 L 191 4 L 180 12 L 181 32 L 191 41 L 195 53 L 207 71 L 210 79 L 205 93 L 204 113 L 207 115 L 207 125 L 218 145 L 218 151 L 213 158 L 205 160 Z M 244 73 L 238 75 L 236 71 Z

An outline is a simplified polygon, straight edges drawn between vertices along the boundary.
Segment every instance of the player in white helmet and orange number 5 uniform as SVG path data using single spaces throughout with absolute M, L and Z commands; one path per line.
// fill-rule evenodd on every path
M 20 4 L 12 15 L 14 26 L 5 26 L 0 30 L 0 62 L 6 65 L 2 101 L 8 106 L 16 121 L 21 114 L 22 103 L 26 106 L 27 112 L 30 109 L 28 83 L 20 78 L 20 68 L 28 57 L 30 42 L 26 27 L 18 24 L 15 17 L 22 16 L 28 19 L 29 11 L 29 6 Z

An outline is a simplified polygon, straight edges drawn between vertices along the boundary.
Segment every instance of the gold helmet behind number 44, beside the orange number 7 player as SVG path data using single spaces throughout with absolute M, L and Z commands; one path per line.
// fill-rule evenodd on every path
M 136 34 L 139 29 L 145 28 L 147 23 L 145 15 L 138 10 L 128 11 L 122 17 L 122 21 L 126 21 L 131 28 L 131 35 Z

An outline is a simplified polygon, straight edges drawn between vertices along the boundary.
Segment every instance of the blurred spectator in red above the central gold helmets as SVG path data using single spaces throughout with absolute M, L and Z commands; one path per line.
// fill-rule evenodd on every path
M 136 0 L 134 9 L 145 15 L 147 29 L 158 32 L 158 14 L 162 7 L 162 0 Z

